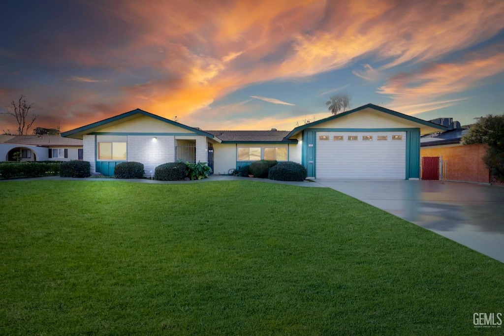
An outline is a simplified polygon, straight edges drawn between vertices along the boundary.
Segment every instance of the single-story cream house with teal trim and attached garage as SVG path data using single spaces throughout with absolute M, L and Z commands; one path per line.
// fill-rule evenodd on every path
M 208 162 L 213 171 L 260 159 L 295 161 L 308 177 L 420 177 L 420 135 L 446 127 L 367 104 L 291 131 L 208 130 L 136 109 L 61 133 L 83 140 L 92 172 L 113 175 L 120 162 L 137 161 L 145 172 L 162 163 Z

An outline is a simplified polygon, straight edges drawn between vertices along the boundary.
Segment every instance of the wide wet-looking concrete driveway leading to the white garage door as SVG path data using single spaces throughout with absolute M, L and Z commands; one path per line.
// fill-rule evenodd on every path
M 441 181 L 316 181 L 504 262 L 504 187 Z

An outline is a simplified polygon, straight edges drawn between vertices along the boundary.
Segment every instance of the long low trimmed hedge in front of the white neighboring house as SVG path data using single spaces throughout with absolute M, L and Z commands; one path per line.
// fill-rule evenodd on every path
M 56 176 L 59 163 L 6 162 L 0 165 L 0 179 Z

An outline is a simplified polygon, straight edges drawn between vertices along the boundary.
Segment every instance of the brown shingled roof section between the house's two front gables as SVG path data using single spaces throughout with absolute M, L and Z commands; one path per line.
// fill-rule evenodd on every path
M 286 140 L 288 130 L 207 130 L 222 143 L 297 143 L 297 140 Z

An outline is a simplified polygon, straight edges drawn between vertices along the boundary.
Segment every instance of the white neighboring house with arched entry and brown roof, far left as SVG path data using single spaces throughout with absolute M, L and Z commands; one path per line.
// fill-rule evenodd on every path
M 82 160 L 82 140 L 56 136 L 0 137 L 0 161 L 14 161 L 21 152 L 21 161 Z

